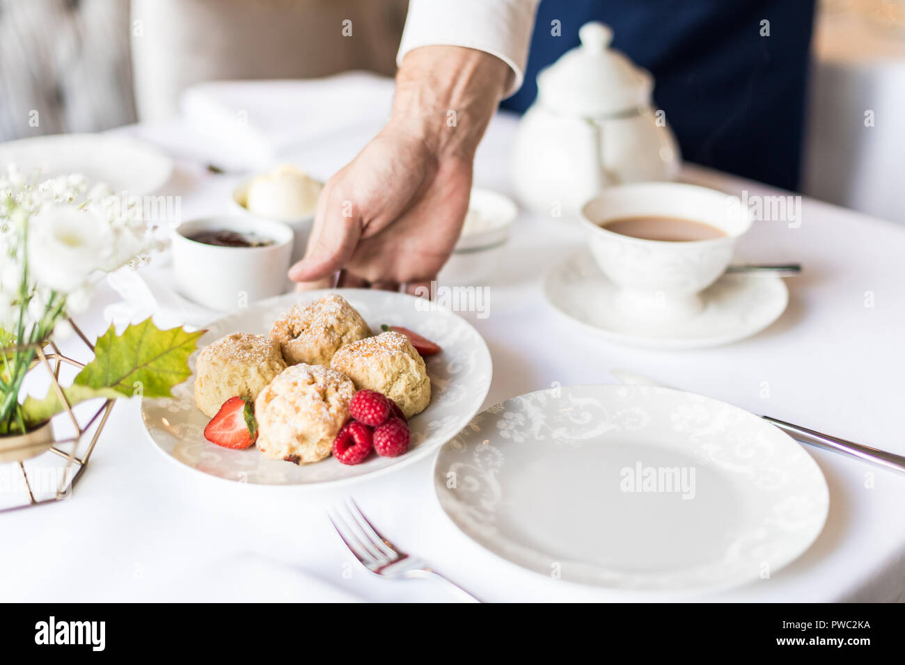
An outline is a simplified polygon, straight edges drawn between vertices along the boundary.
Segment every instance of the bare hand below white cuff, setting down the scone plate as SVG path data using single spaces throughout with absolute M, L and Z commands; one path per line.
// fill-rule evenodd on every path
M 296 281 L 343 270 L 342 286 L 414 292 L 436 279 L 459 239 L 474 151 L 509 66 L 458 46 L 424 46 L 396 75 L 392 118 L 320 195 Z

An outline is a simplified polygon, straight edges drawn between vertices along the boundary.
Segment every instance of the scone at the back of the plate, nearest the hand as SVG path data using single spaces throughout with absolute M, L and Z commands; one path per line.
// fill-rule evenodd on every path
M 329 366 L 339 347 L 370 335 L 365 319 L 336 294 L 293 305 L 271 328 L 271 339 L 280 344 L 290 365 Z

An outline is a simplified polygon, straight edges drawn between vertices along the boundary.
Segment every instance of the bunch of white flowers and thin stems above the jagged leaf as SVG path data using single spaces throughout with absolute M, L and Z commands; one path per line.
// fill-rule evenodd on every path
M 0 171 L 0 435 L 24 428 L 19 391 L 33 348 L 70 331 L 99 277 L 137 266 L 157 249 L 141 205 L 73 174 L 40 180 Z

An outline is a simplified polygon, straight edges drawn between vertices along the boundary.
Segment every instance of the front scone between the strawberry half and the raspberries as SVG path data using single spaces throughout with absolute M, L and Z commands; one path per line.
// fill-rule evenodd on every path
M 254 401 L 258 450 L 296 464 L 323 460 L 348 419 L 353 394 L 352 382 L 329 367 L 287 367 Z

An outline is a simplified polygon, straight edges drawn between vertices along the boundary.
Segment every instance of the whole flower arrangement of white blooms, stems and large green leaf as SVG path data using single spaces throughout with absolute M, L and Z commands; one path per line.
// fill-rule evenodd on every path
M 0 174 L 0 440 L 42 427 L 65 403 L 168 396 L 186 380 L 204 331 L 161 330 L 148 319 L 121 334 L 111 326 L 69 387 L 21 398 L 41 349 L 71 333 L 71 316 L 87 308 L 100 278 L 147 260 L 153 232 L 140 202 L 89 188 L 82 176 L 39 183 L 14 166 Z

